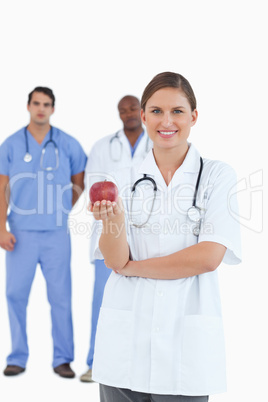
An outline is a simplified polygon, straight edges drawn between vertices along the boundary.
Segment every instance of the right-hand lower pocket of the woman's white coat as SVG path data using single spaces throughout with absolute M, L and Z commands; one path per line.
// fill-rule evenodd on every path
M 226 391 L 225 347 L 221 317 L 189 315 L 183 319 L 182 389 L 196 395 Z

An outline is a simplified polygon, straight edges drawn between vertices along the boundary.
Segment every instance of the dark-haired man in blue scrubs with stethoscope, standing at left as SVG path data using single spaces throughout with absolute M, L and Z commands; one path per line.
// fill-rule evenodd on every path
M 35 88 L 27 105 L 30 123 L 0 147 L 0 246 L 6 250 L 12 340 L 7 376 L 26 368 L 26 309 L 37 264 L 51 306 L 53 369 L 62 377 L 75 376 L 67 220 L 84 189 L 87 158 L 76 139 L 50 125 L 54 103 L 51 89 Z

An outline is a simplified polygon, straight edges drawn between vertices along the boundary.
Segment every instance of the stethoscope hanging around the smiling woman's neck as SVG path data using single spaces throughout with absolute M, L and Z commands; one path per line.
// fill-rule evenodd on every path
M 202 171 L 203 171 L 203 159 L 200 157 L 200 168 L 199 168 L 199 173 L 198 173 L 198 177 L 196 180 L 195 191 L 194 191 L 194 196 L 193 196 L 193 203 L 192 203 L 192 206 L 187 211 L 188 218 L 195 224 L 195 226 L 192 228 L 192 232 L 195 236 L 199 236 L 200 225 L 201 225 L 201 209 L 196 206 L 196 198 L 197 198 L 197 193 L 198 193 L 198 188 L 199 188 Z M 135 195 L 137 186 L 144 181 L 149 181 L 152 184 L 153 191 L 154 191 L 154 197 L 153 197 L 152 206 L 151 206 L 150 212 L 147 216 L 147 219 L 145 220 L 145 222 L 137 224 L 137 223 L 134 223 L 133 219 L 132 219 L 133 199 L 134 199 L 134 195 Z M 154 203 L 155 203 L 155 199 L 156 199 L 156 193 L 157 193 L 157 185 L 156 185 L 155 180 L 152 177 L 148 177 L 146 174 L 144 174 L 141 179 L 137 180 L 133 184 L 132 189 L 131 189 L 131 200 L 130 200 L 130 224 L 132 226 L 135 226 L 136 228 L 142 228 L 147 224 L 147 222 L 149 221 L 150 216 L 153 212 Z

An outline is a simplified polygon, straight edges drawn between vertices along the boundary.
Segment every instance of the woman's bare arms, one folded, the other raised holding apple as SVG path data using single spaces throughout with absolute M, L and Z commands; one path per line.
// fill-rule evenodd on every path
M 99 247 L 107 267 L 124 276 L 151 279 L 181 279 L 214 271 L 222 262 L 226 247 L 204 241 L 173 254 L 141 261 L 129 260 L 125 216 L 121 200 L 96 202 L 91 210 L 102 220 Z

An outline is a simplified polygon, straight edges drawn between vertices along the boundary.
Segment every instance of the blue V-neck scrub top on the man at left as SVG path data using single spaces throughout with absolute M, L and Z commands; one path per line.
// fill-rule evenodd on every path
M 71 176 L 84 171 L 87 156 L 79 142 L 53 127 L 53 140 L 59 150 L 59 167 L 46 171 L 40 167 L 42 144 L 27 132 L 31 162 L 25 162 L 24 128 L 8 137 L 0 147 L 0 174 L 9 176 L 10 230 L 55 230 L 67 228 L 72 209 Z M 50 143 L 44 156 L 44 167 L 55 166 L 55 148 Z

